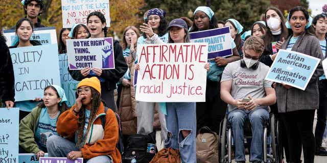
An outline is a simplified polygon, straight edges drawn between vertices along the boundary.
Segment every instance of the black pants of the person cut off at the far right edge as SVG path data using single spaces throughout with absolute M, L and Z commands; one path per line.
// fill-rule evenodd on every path
M 319 81 L 319 109 L 317 110 L 317 125 L 315 130 L 316 148 L 321 147 L 327 118 L 327 80 Z

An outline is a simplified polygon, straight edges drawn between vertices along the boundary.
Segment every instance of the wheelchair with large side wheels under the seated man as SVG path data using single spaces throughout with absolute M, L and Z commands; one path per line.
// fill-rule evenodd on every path
M 232 129 L 231 124 L 227 120 L 228 114 L 225 115 L 224 120 L 220 122 L 220 132 L 219 132 L 219 162 L 231 162 L 231 153 L 232 148 Z M 278 125 L 279 122 L 275 119 L 273 113 L 269 113 L 269 120 L 264 123 L 264 132 L 263 132 L 263 161 L 268 162 L 282 162 L 282 155 L 283 149 L 281 147 L 281 139 L 278 137 Z M 251 139 L 252 132 L 251 132 L 251 124 L 249 120 L 245 120 L 244 122 L 244 139 Z M 267 144 L 268 136 L 271 136 L 271 143 L 270 146 Z M 246 143 L 244 147 L 250 147 L 250 143 Z M 269 154 L 267 148 L 271 147 L 271 153 Z

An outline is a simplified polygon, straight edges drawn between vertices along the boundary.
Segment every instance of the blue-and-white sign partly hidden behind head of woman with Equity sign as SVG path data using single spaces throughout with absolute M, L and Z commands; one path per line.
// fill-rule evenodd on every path
M 35 28 L 31 40 L 38 40 L 42 45 L 57 44 L 57 33 L 54 27 Z M 13 42 L 18 41 L 15 37 L 15 30 L 5 30 L 4 36 L 7 38 L 7 45 L 12 46 Z

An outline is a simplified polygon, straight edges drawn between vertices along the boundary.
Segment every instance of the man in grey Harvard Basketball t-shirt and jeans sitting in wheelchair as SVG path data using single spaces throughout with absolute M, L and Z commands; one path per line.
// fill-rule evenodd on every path
M 250 161 L 263 160 L 263 125 L 269 120 L 268 106 L 276 102 L 272 82 L 265 80 L 269 67 L 259 62 L 264 51 L 264 41 L 249 37 L 243 45 L 243 59 L 229 63 L 221 78 L 221 99 L 228 103 L 228 121 L 232 127 L 235 144 L 235 161 L 245 162 L 245 119 L 252 130 Z

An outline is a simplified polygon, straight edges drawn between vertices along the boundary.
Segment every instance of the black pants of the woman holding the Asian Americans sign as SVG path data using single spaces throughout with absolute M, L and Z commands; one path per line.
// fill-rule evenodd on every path
M 301 149 L 305 163 L 313 163 L 315 157 L 315 138 L 313 135 L 313 119 L 315 110 L 300 110 L 282 113 L 285 125 L 290 162 L 301 162 Z

